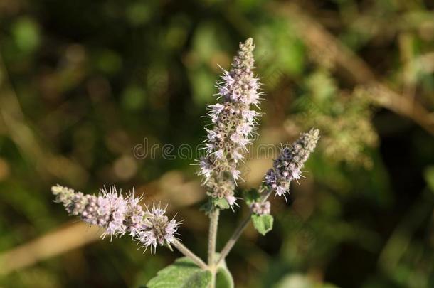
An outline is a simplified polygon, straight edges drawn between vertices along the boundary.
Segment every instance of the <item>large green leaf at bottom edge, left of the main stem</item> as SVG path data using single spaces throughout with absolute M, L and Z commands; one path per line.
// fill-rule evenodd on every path
M 149 280 L 148 288 L 208 288 L 211 284 L 211 272 L 201 270 L 187 257 L 175 260 Z

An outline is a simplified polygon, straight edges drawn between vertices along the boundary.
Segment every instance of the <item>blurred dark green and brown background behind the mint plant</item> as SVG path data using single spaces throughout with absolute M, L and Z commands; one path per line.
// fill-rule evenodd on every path
M 55 183 L 169 203 L 205 256 L 193 159 L 214 83 L 255 39 L 258 144 L 319 147 L 275 228 L 228 257 L 236 287 L 434 287 L 434 4 L 422 0 L 0 0 L 0 287 L 138 287 L 179 253 L 137 251 L 53 203 Z M 140 158 L 140 157 L 139 157 Z M 245 183 L 272 163 L 250 157 Z M 247 212 L 222 213 L 218 247 Z M 327 286 L 329 285 L 329 286 Z

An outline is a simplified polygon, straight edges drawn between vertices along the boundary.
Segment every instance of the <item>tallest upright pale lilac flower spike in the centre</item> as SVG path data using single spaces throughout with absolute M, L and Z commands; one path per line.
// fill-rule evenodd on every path
M 208 105 L 212 129 L 206 129 L 204 141 L 206 156 L 199 160 L 199 175 L 208 195 L 225 198 L 231 208 L 236 204 L 233 196 L 236 182 L 240 179 L 238 164 L 243 160 L 255 134 L 255 117 L 260 113 L 250 110 L 258 106 L 261 92 L 259 80 L 253 75 L 253 39 L 240 43 L 233 58 L 231 71 L 223 70 L 221 82 L 217 83 L 221 103 Z

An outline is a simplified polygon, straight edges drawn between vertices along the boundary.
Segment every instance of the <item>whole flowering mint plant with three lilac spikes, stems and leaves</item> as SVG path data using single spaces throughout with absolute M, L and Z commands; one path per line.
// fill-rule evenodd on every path
M 99 195 L 85 195 L 63 186 L 53 186 L 55 202 L 85 223 L 102 228 L 102 238 L 128 235 L 144 250 L 152 252 L 157 246 L 175 247 L 185 257 L 164 268 L 147 283 L 147 287 L 233 287 L 233 278 L 225 258 L 250 220 L 262 235 L 272 230 L 273 218 L 268 198 L 273 193 L 283 196 L 290 193 L 290 183 L 302 177 L 302 168 L 314 151 L 319 131 L 311 129 L 303 133 L 292 145 L 282 145 L 273 166 L 265 174 L 258 188 L 235 196 L 235 187 L 241 181 L 239 165 L 248 153 L 248 144 L 256 133 L 256 119 L 260 113 L 254 110 L 260 103 L 260 82 L 253 74 L 253 39 L 240 43 L 232 68 L 223 70 L 217 83 L 220 102 L 208 106 L 211 126 L 205 128 L 206 154 L 198 160 L 203 186 L 208 202 L 204 209 L 210 218 L 208 235 L 208 259 L 204 262 L 191 252 L 177 233 L 181 222 L 166 216 L 165 208 L 142 204 L 142 198 L 134 196 L 134 190 L 123 196 L 115 186 L 102 188 Z M 243 199 L 241 202 L 239 200 Z M 250 213 L 238 225 L 223 249 L 216 252 L 218 217 L 220 210 L 235 208 L 245 203 Z M 142 206 L 143 205 L 143 206 Z

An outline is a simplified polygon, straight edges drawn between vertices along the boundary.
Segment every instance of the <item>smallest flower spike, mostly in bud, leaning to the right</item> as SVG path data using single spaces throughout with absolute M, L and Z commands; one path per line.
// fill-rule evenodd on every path
M 265 174 L 265 187 L 272 189 L 278 196 L 290 191 L 292 180 L 300 179 L 301 169 L 314 151 L 319 139 L 319 130 L 311 129 L 303 133 L 291 146 L 282 147 L 275 159 L 273 168 Z

